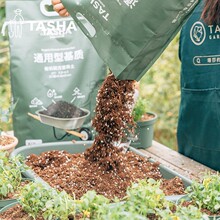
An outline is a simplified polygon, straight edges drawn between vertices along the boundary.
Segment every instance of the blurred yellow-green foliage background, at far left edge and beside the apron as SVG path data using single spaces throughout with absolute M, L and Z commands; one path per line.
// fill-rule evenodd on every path
M 0 0 L 0 30 L 5 20 L 5 1 Z M 146 111 L 158 115 L 154 125 L 154 140 L 177 149 L 176 127 L 180 101 L 178 59 L 179 35 L 140 81 L 140 96 L 148 100 Z M 0 34 L 0 130 L 12 130 L 10 117 L 11 88 L 9 74 L 9 43 Z

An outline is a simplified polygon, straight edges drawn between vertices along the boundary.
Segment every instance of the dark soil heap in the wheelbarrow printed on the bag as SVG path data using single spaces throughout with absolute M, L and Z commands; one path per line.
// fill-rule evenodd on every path
M 52 103 L 47 107 L 47 110 L 40 111 L 39 113 L 55 118 L 78 118 L 86 115 L 86 112 L 82 109 L 66 101 Z

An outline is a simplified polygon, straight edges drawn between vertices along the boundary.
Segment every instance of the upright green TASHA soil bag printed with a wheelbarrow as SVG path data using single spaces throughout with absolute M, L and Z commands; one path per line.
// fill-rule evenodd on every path
M 50 0 L 7 0 L 6 33 L 18 146 L 79 139 L 28 115 L 61 100 L 88 109 L 83 127 L 92 130 L 96 95 L 107 68 L 74 20 L 60 17 Z

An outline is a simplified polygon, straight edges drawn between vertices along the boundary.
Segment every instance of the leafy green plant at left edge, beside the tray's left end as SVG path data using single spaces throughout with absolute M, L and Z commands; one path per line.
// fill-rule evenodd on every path
M 8 157 L 7 151 L 0 151 L 0 199 L 11 198 L 21 185 L 26 166 L 21 157 Z

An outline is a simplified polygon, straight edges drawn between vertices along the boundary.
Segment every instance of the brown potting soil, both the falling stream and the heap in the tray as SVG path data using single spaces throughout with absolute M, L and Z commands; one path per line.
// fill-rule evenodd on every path
M 50 151 L 40 156 L 30 155 L 27 164 L 52 187 L 75 193 L 80 198 L 88 190 L 95 190 L 110 199 L 123 198 L 127 187 L 138 179 L 163 179 L 159 164 L 124 152 L 116 147 L 135 126 L 132 117 L 134 81 L 117 80 L 113 74 L 104 81 L 97 95 L 93 126 L 97 131 L 93 145 L 82 154 Z M 182 194 L 184 186 L 163 180 L 166 194 Z

